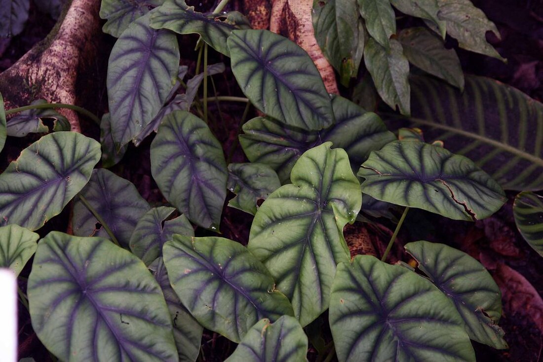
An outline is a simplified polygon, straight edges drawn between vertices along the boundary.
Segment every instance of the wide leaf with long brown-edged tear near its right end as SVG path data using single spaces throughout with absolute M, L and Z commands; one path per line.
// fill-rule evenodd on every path
M 362 191 L 392 204 L 421 208 L 455 220 L 489 217 L 507 200 L 500 185 L 475 163 L 444 148 L 396 141 L 362 164 Z

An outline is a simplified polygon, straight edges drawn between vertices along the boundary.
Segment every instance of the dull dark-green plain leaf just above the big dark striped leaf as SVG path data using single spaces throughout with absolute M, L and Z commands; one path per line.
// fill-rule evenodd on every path
M 403 54 L 413 65 L 464 90 L 464 73 L 454 49 L 426 28 L 407 28 L 397 38 Z

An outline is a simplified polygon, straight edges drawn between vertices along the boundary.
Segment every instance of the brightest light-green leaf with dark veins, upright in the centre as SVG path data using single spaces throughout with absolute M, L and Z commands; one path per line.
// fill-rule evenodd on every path
M 350 254 L 343 227 L 362 204 L 349 158 L 327 142 L 306 151 L 252 222 L 249 250 L 267 266 L 302 326 L 328 308 L 336 264 Z

